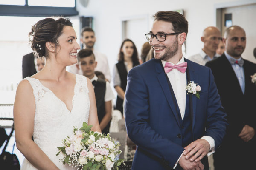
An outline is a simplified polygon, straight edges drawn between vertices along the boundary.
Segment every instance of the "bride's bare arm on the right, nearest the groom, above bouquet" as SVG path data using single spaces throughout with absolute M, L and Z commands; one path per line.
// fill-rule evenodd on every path
M 93 85 L 92 85 L 90 79 L 88 79 L 88 78 L 87 78 L 87 87 L 88 87 L 88 90 L 89 90 L 89 98 L 90 98 L 90 113 L 89 113 L 89 118 L 88 118 L 88 125 L 93 125 L 91 130 L 101 132 L 100 126 L 99 126 L 99 120 L 98 120 L 98 114 L 97 114 L 97 107 L 96 107 L 96 100 L 95 100 Z

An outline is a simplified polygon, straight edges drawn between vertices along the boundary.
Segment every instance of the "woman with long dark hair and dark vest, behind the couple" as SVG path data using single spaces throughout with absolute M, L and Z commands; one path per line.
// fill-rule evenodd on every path
M 115 109 L 119 110 L 122 115 L 128 71 L 139 64 L 138 52 L 134 42 L 125 39 L 119 50 L 118 63 L 116 63 L 113 70 L 113 83 L 117 92 Z

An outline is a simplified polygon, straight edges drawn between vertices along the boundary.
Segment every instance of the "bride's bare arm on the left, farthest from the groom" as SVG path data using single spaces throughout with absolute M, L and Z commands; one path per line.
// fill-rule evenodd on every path
M 17 148 L 39 170 L 59 170 L 32 140 L 35 118 L 35 97 L 27 80 L 18 85 L 14 102 L 14 127 Z

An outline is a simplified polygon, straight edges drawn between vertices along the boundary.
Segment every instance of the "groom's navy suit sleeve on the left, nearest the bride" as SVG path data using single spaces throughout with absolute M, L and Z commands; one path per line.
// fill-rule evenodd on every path
M 148 98 L 148 88 L 143 77 L 138 70 L 132 69 L 128 73 L 125 92 L 125 122 L 128 136 L 145 154 L 173 168 L 184 149 L 161 136 L 150 126 L 154 120 L 150 119 Z

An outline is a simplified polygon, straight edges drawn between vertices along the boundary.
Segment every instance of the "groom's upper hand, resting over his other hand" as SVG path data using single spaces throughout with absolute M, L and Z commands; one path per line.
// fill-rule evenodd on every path
M 198 139 L 184 148 L 183 155 L 190 161 L 198 162 L 206 156 L 210 150 L 210 144 L 205 139 Z

